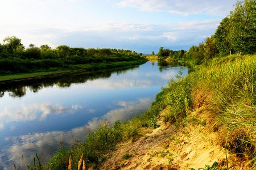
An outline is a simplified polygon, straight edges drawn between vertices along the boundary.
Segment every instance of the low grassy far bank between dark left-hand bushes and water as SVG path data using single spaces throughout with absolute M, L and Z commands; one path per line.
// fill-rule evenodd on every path
M 54 78 L 54 77 L 62 76 L 66 74 L 81 73 L 86 71 L 99 71 L 99 70 L 105 70 L 105 69 L 125 69 L 130 66 L 142 65 L 143 63 L 146 63 L 146 62 L 147 61 L 144 61 L 144 60 L 122 61 L 122 62 L 112 62 L 112 63 L 101 63 L 100 69 L 98 69 L 97 66 L 96 67 L 92 66 L 90 69 L 63 70 L 63 71 L 60 70 L 60 71 L 49 71 L 49 72 L 2 75 L 0 76 L 0 86 L 4 86 L 6 84 L 19 83 L 19 82 L 28 82 L 28 81 L 37 80 L 37 79 Z

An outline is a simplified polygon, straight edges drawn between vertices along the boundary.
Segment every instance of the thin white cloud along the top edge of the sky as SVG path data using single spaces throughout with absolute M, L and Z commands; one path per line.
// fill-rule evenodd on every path
M 115 1 L 119 7 L 137 7 L 143 11 L 166 11 L 174 14 L 228 15 L 235 0 L 122 0 Z

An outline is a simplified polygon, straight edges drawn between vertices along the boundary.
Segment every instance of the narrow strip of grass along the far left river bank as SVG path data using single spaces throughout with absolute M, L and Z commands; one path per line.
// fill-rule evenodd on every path
M 71 65 L 68 68 L 60 69 L 57 67 L 52 67 L 48 70 L 42 70 L 34 73 L 22 73 L 22 74 L 10 74 L 10 75 L 0 75 L 0 84 L 10 83 L 12 81 L 18 82 L 27 79 L 44 78 L 48 76 L 58 76 L 63 73 L 73 73 L 75 71 L 93 71 L 93 70 L 104 70 L 113 68 L 123 68 L 134 65 L 141 65 L 146 62 L 146 60 L 141 59 L 139 61 L 121 61 L 121 62 L 108 62 L 108 63 L 90 63 L 84 65 Z

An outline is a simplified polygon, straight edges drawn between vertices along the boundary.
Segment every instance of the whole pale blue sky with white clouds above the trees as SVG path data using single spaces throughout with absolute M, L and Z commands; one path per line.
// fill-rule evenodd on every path
M 0 0 L 0 42 L 188 49 L 214 33 L 236 0 Z

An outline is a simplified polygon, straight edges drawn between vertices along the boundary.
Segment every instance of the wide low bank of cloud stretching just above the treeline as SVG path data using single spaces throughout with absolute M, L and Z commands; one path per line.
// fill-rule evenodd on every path
M 156 52 L 160 46 L 177 50 L 197 45 L 214 33 L 219 22 L 220 19 L 207 19 L 169 24 L 102 23 L 81 27 L 42 25 L 40 28 L 21 25 L 20 29 L 1 27 L 0 37 L 17 35 L 25 46 L 31 43 L 36 46 L 49 44 L 55 48 L 64 44 L 84 48 L 123 48 L 149 53 L 152 50 Z

